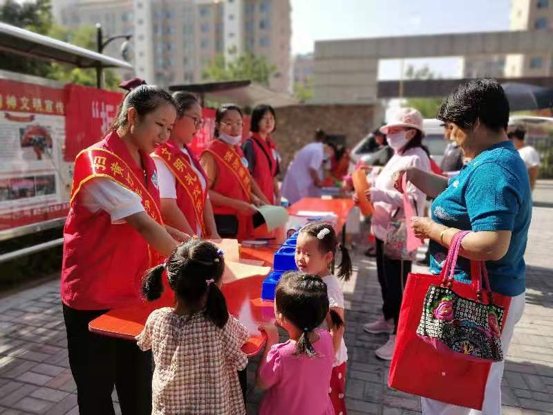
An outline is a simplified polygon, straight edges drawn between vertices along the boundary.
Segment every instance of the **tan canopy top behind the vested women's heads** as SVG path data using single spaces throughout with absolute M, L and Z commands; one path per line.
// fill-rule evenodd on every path
M 171 85 L 170 91 L 188 91 L 200 95 L 202 106 L 205 101 L 232 102 L 240 107 L 255 107 L 268 104 L 271 107 L 288 107 L 299 104 L 290 95 L 272 91 L 250 80 L 229 82 L 204 82 L 200 84 Z

